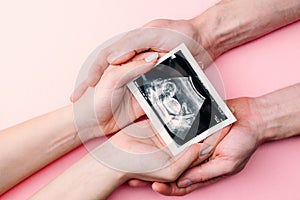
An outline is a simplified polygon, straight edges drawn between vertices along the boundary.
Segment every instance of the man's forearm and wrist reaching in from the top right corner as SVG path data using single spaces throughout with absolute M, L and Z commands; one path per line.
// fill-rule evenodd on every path
M 204 40 L 204 48 L 216 59 L 299 19 L 299 0 L 223 0 L 191 22 L 199 31 L 199 41 Z

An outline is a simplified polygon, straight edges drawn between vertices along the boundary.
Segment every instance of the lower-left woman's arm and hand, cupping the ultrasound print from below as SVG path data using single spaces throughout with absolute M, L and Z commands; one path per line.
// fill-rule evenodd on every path
M 113 135 L 105 144 L 86 155 L 30 199 L 106 199 L 119 185 L 131 178 L 174 181 L 201 157 L 203 144 L 194 144 L 173 157 L 170 152 L 163 150 L 163 144 L 160 143 L 148 120 L 131 126 L 134 128 L 129 126 Z M 126 133 L 128 131 L 130 134 Z M 146 137 L 141 139 L 141 134 Z M 101 155 L 110 155 L 115 147 L 131 154 L 130 158 L 122 157 L 120 152 L 118 155 L 111 155 L 120 170 L 113 169 L 114 166 L 110 167 L 101 160 Z M 98 155 L 100 160 L 97 159 Z M 145 166 L 159 162 L 161 167 L 153 168 L 151 171 L 144 170 Z

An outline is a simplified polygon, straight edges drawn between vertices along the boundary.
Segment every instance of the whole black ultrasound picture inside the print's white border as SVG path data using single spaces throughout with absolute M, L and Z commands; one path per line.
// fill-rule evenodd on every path
M 181 50 L 133 82 L 178 146 L 227 119 Z

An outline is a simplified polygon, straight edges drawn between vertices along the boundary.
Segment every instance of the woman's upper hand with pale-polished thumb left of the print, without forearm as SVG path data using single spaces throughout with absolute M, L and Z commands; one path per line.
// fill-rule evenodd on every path
M 74 118 L 83 141 L 116 132 L 135 121 L 144 111 L 126 84 L 146 73 L 158 53 L 143 53 L 123 65 L 109 65 L 100 82 L 74 103 Z

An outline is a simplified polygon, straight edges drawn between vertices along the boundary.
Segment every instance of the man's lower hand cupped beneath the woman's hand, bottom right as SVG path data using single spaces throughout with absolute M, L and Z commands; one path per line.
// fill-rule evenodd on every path
M 251 98 L 239 98 L 227 103 L 234 110 L 237 122 L 217 145 L 209 160 L 186 171 L 177 182 L 153 183 L 153 190 L 164 195 L 185 195 L 244 168 L 262 142 L 262 120 Z

